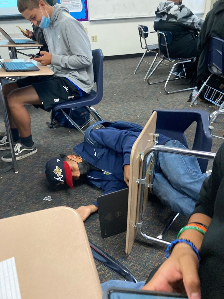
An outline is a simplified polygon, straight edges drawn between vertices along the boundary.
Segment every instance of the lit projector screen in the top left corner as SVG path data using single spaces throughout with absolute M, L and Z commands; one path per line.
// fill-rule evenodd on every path
M 17 9 L 17 0 L 0 0 L 0 19 L 23 18 Z

